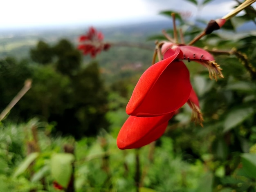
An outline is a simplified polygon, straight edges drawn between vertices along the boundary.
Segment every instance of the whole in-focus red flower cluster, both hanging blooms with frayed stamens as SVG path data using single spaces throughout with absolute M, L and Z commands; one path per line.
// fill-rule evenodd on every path
M 120 149 L 138 148 L 164 134 L 175 111 L 185 103 L 193 110 L 192 120 L 202 125 L 198 98 L 192 89 L 189 71 L 181 60 L 207 67 L 210 78 L 223 78 L 213 56 L 198 47 L 162 42 L 163 60 L 149 67 L 139 79 L 126 106 L 130 117 L 117 136 Z

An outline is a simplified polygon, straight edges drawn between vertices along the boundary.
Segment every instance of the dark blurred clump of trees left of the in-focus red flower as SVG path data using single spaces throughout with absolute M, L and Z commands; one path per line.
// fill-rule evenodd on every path
M 0 110 L 7 106 L 27 78 L 33 80 L 31 90 L 9 114 L 10 121 L 22 122 L 40 116 L 45 121 L 55 122 L 56 131 L 76 138 L 108 129 L 107 91 L 98 63 L 81 67 L 80 52 L 65 39 L 53 46 L 40 40 L 30 54 L 36 63 L 18 62 L 13 57 L 0 60 Z

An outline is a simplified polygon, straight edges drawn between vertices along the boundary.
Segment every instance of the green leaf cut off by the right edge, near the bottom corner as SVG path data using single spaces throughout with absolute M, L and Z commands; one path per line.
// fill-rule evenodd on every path
M 245 153 L 241 157 L 245 172 L 248 176 L 256 179 L 256 154 Z

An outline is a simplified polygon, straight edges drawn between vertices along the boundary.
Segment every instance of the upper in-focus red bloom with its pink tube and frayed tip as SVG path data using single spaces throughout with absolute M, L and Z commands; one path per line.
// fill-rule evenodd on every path
M 198 62 L 209 70 L 209 76 L 223 78 L 213 56 L 198 47 L 162 45 L 164 60 L 149 67 L 139 79 L 126 106 L 126 113 L 138 117 L 161 116 L 184 105 L 191 93 L 189 71 L 181 60 Z

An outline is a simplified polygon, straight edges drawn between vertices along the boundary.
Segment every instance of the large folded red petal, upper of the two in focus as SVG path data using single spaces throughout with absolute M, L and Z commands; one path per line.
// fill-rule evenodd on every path
M 182 107 L 189 98 L 189 71 L 173 56 L 149 67 L 139 79 L 126 106 L 132 116 L 152 117 L 168 114 Z

